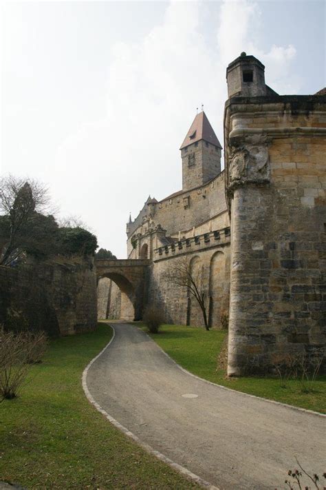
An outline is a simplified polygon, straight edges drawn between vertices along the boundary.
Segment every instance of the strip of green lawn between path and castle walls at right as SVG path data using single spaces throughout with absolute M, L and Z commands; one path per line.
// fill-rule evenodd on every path
M 298 380 L 290 380 L 287 387 L 282 388 L 278 378 L 226 378 L 225 370 L 217 369 L 217 357 L 226 335 L 226 331 L 217 329 L 206 331 L 199 327 L 164 325 L 159 334 L 151 334 L 151 337 L 178 364 L 201 378 L 244 393 L 326 413 L 326 376 L 319 376 L 314 382 L 313 393 L 303 393 Z

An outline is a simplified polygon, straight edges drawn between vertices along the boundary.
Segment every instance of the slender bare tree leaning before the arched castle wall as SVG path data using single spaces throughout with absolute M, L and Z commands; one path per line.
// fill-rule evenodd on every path
M 186 288 L 188 294 L 195 298 L 202 310 L 205 328 L 209 330 L 203 266 L 193 267 L 191 254 L 185 254 L 173 261 L 165 276 L 169 283 Z

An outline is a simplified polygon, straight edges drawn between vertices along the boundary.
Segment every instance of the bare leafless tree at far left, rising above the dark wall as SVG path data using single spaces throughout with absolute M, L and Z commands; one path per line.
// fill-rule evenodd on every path
M 1 240 L 0 265 L 9 265 L 21 256 L 21 235 L 34 214 L 46 212 L 49 203 L 47 187 L 37 181 L 12 175 L 0 179 L 1 225 L 8 232 Z

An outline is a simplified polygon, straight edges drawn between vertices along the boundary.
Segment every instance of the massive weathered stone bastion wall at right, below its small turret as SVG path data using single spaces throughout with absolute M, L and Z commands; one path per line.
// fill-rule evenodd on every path
M 230 375 L 325 349 L 323 99 L 228 103 Z

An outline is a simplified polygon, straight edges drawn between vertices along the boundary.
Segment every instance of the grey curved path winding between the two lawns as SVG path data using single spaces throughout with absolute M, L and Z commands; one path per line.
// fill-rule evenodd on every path
M 307 471 L 325 471 L 325 417 L 195 378 L 136 327 L 114 329 L 87 387 L 153 449 L 224 490 L 283 489 L 294 456 Z

